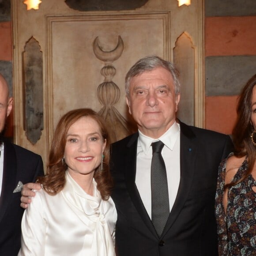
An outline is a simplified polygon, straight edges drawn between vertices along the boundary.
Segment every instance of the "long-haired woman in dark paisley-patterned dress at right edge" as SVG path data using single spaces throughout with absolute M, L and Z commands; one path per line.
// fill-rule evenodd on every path
M 242 89 L 234 152 L 219 166 L 215 215 L 219 255 L 256 255 L 256 75 Z

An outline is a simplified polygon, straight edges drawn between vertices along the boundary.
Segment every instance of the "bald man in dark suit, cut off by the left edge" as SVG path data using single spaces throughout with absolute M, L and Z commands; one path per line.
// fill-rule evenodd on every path
M 43 175 L 41 156 L 4 138 L 6 118 L 11 109 L 8 85 L 0 75 L 0 255 L 3 256 L 17 256 L 19 252 L 24 211 L 20 207 L 22 186 Z

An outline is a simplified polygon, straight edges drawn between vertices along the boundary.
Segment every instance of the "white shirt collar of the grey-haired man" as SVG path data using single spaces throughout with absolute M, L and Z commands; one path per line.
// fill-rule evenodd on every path
M 151 137 L 148 137 L 144 135 L 141 131 L 139 131 L 138 144 L 141 146 L 145 154 L 148 153 L 151 143 L 157 140 L 161 140 L 166 147 L 168 147 L 171 151 L 173 151 L 173 147 L 178 139 L 179 134 L 180 134 L 180 125 L 175 121 L 173 125 L 158 139 L 153 139 Z

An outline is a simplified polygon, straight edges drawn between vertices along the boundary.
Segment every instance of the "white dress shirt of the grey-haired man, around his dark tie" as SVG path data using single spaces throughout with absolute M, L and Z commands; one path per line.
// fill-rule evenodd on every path
M 180 184 L 180 125 L 177 122 L 158 139 L 152 139 L 139 131 L 136 162 L 136 186 L 139 195 L 151 218 L 151 143 L 161 140 L 164 143 L 162 157 L 166 165 L 169 207 L 173 207 Z

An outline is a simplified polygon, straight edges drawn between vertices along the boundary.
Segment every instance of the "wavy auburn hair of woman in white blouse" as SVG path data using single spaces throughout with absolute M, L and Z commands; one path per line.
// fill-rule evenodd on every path
M 38 182 L 42 184 L 44 190 L 49 195 L 56 195 L 64 188 L 67 165 L 62 162 L 62 158 L 67 142 L 67 132 L 70 126 L 82 117 L 94 119 L 98 123 L 103 140 L 106 140 L 105 151 L 103 152 L 105 155 L 103 159 L 103 171 L 100 172 L 99 168 L 97 168 L 94 172 L 94 179 L 97 182 L 97 189 L 102 199 L 108 200 L 113 187 L 113 181 L 109 171 L 109 134 L 102 117 L 92 109 L 74 109 L 60 118 L 53 135 L 46 175 L 39 177 Z

